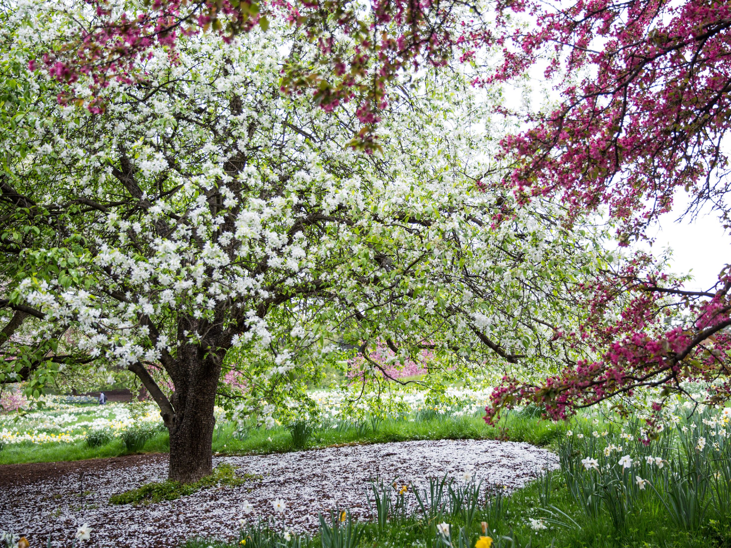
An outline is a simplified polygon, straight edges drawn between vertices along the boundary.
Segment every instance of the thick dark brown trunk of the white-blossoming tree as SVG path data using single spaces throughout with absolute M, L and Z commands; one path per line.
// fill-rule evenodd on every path
M 175 418 L 170 431 L 168 478 L 176 482 L 197 482 L 213 470 L 213 427 L 220 366 L 209 360 L 190 359 L 185 365 L 189 381 L 175 387 Z

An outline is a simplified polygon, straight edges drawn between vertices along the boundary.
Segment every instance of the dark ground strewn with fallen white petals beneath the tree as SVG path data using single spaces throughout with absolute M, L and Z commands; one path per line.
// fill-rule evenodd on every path
M 90 548 L 173 547 L 193 536 L 231 539 L 237 535 L 241 518 L 275 517 L 292 530 L 314 532 L 319 512 L 351 509 L 355 516 L 368 517 L 366 492 L 374 479 L 419 485 L 446 473 L 463 482 L 467 471 L 483 485 L 499 484 L 512 490 L 542 469 L 558 465 L 556 455 L 545 449 L 492 440 L 406 441 L 216 457 L 214 465 L 230 463 L 238 467 L 237 473 L 261 479 L 250 479 L 238 487 L 202 490 L 175 501 L 115 506 L 108 502 L 110 495 L 164 481 L 167 458 L 88 462 L 94 465 L 59 467 L 57 473 L 37 473 L 37 478 L 13 469 L 12 479 L 3 482 L 0 529 L 25 535 L 32 547 L 45 546 L 50 533 L 54 547 L 67 547 L 77 527 L 88 523 L 91 540 L 84 544 Z M 80 471 L 86 472 L 81 480 Z M 81 495 L 82 490 L 86 495 Z M 413 498 L 411 490 L 407 497 Z M 284 513 L 275 514 L 274 499 L 284 500 Z M 248 516 L 242 511 L 244 501 L 254 506 Z

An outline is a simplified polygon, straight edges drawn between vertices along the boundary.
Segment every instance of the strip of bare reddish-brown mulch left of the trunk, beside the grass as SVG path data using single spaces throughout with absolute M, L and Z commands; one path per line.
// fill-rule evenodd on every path
M 58 463 L 26 463 L 26 464 L 4 464 L 0 465 L 0 490 L 13 487 L 18 484 L 28 485 L 35 482 L 42 482 L 58 476 L 69 474 L 96 473 L 99 471 L 110 471 L 114 468 L 127 468 L 146 463 L 156 463 L 160 460 L 167 461 L 167 454 L 127 454 L 123 457 L 111 457 L 106 459 L 87 459 L 61 461 Z

